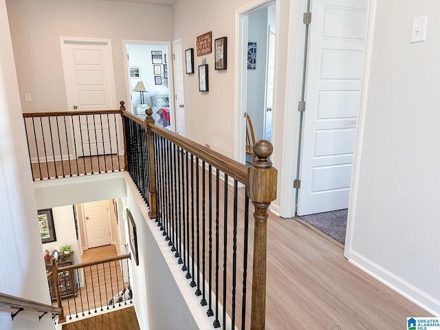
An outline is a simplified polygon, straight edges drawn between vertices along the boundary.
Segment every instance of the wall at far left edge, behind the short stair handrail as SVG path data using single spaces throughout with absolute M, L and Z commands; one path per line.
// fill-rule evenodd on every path
M 41 251 L 32 178 L 5 1 L 0 0 L 0 292 L 51 304 Z M 38 254 L 42 258 L 42 254 Z M 50 315 L 0 311 L 0 329 L 54 329 Z

